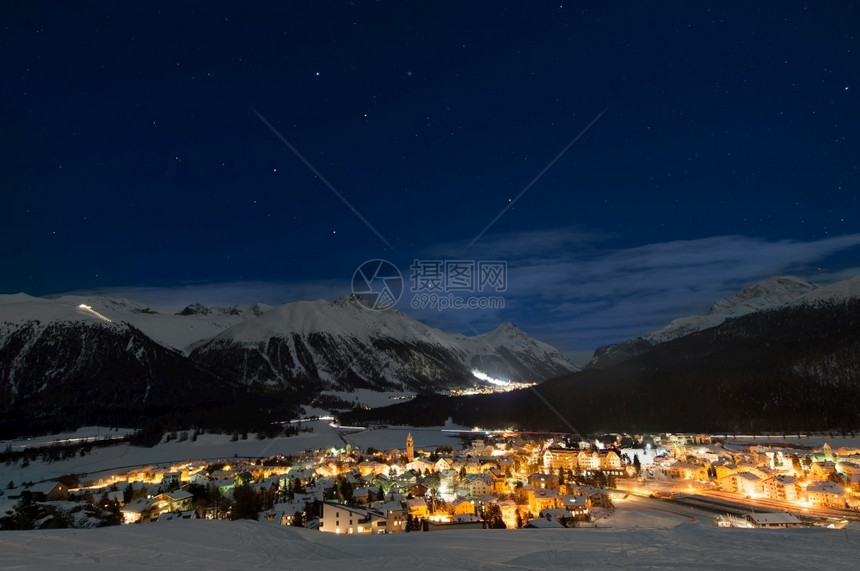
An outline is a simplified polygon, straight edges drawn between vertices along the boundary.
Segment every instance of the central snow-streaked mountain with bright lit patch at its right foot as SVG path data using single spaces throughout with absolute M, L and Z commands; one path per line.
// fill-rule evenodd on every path
M 268 311 L 195 344 L 191 358 L 250 385 L 299 389 L 436 390 L 477 382 L 540 381 L 576 370 L 511 323 L 483 335 L 446 333 L 352 296 Z

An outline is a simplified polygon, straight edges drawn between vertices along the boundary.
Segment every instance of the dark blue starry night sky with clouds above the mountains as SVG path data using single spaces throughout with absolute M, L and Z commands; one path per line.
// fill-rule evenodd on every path
M 381 258 L 402 311 L 573 351 L 860 274 L 852 2 L 272 4 L 0 7 L 0 292 L 279 304 Z M 411 309 L 416 259 L 507 262 L 506 307 Z

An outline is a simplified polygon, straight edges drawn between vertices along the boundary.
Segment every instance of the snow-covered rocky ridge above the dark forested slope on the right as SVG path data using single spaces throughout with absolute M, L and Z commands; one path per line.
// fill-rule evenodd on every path
M 671 323 L 642 337 L 614 345 L 600 347 L 595 351 L 589 366 L 608 367 L 637 355 L 651 347 L 704 331 L 722 324 L 727 319 L 740 317 L 756 311 L 829 303 L 860 297 L 860 277 L 840 281 L 828 286 L 792 277 L 778 276 L 745 287 L 736 294 L 720 299 L 705 315 L 680 317 Z

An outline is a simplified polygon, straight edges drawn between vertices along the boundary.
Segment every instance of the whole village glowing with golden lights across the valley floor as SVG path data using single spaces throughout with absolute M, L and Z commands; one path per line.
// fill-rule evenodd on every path
M 860 449 L 741 446 L 706 435 L 464 433 L 460 449 L 343 448 L 142 466 L 97 481 L 9 486 L 7 502 L 101 510 L 93 525 L 258 519 L 335 534 L 599 527 L 637 498 L 726 527 L 858 519 Z M 7 511 L 6 517 L 13 517 Z M 105 514 L 109 514 L 105 519 Z M 109 518 L 113 517 L 113 520 Z M 2 521 L 2 520 L 0 520 Z

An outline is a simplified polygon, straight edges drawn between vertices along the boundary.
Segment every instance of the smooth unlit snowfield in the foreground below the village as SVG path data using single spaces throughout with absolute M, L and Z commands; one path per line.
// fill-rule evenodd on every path
M 333 535 L 251 521 L 0 534 L 0 568 L 839 569 L 860 530 L 671 528 Z

